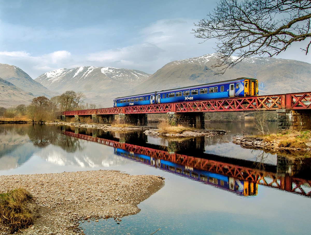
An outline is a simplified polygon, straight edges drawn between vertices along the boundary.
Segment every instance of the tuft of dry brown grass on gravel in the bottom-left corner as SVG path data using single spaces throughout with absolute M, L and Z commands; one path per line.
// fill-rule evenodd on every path
M 0 222 L 9 225 L 11 233 L 34 222 L 25 206 L 25 201 L 30 199 L 31 195 L 21 188 L 0 194 Z

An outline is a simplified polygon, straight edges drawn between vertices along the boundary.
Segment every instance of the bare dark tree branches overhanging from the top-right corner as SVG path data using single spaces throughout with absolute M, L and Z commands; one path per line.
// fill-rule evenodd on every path
M 220 41 L 215 48 L 218 60 L 212 66 L 219 74 L 244 58 L 272 57 L 311 37 L 310 0 L 221 0 L 207 16 L 194 24 L 193 31 L 204 41 Z M 310 44 L 302 49 L 305 54 Z

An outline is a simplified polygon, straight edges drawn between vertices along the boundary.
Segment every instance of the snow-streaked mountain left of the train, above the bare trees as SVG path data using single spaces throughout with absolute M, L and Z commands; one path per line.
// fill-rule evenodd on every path
M 150 75 L 125 68 L 88 66 L 57 69 L 42 74 L 35 81 L 59 93 L 67 90 L 83 92 L 87 97 L 86 102 L 111 107 L 114 97 L 132 89 Z

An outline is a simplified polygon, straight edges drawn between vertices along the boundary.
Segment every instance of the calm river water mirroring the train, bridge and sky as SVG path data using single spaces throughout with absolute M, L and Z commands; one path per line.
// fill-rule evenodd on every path
M 250 124 L 207 125 L 230 132 L 172 141 L 142 132 L 0 125 L 0 174 L 113 169 L 165 177 L 165 186 L 138 205 L 140 213 L 120 224 L 83 223 L 85 234 L 310 234 L 310 160 L 223 142 L 242 131 L 256 134 Z

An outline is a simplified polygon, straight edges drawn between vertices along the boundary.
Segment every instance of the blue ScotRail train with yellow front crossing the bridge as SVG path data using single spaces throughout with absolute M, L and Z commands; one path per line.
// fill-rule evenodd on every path
M 258 96 L 258 80 L 237 78 L 114 99 L 114 107 Z

